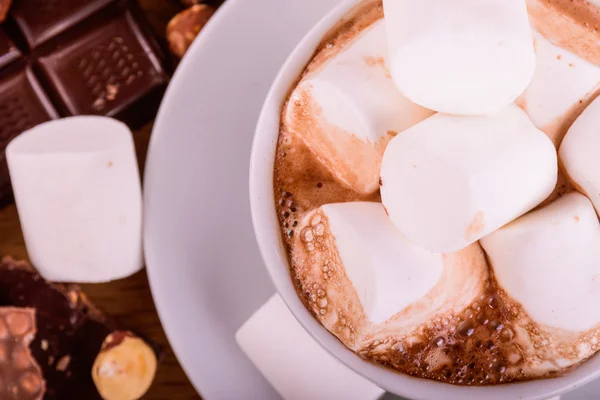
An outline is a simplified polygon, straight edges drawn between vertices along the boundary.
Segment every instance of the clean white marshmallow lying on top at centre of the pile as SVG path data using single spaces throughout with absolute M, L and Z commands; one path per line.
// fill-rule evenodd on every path
M 454 252 L 552 193 L 557 155 L 515 105 L 482 116 L 436 114 L 396 136 L 381 167 L 381 197 L 404 237 Z

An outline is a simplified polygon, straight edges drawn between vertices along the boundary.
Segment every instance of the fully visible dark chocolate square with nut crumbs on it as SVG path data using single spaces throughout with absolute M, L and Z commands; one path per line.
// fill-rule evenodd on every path
M 38 63 L 54 99 L 69 115 L 123 118 L 132 104 L 168 81 L 129 10 L 65 42 Z

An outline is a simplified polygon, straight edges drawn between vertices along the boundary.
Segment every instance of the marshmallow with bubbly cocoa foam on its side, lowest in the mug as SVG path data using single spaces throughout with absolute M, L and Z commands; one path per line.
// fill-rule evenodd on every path
M 306 261 L 294 273 L 309 309 L 354 351 L 462 312 L 489 277 L 478 243 L 453 254 L 423 250 L 400 236 L 381 203 L 321 206 L 302 220 L 296 241 L 304 249 L 292 257 Z

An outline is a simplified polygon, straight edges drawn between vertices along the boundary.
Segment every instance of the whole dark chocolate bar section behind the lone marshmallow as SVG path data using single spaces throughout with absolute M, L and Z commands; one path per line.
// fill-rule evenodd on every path
M 128 0 L 15 0 L 0 27 L 0 206 L 4 150 L 58 117 L 104 115 L 136 128 L 156 114 L 167 58 Z

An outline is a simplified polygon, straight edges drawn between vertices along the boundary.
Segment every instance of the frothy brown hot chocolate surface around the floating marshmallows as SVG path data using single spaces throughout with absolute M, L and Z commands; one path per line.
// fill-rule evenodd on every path
M 581 16 L 572 9 L 573 3 L 579 1 L 528 0 L 528 7 L 532 18 L 540 19 L 534 21 L 535 26 L 546 22 L 552 26 L 566 24 L 564 19 L 569 20 L 567 25 L 571 27 L 586 26 L 591 17 L 585 14 L 579 19 Z M 551 10 L 550 16 L 548 10 Z M 575 10 L 579 13 L 581 7 Z M 326 35 L 300 79 L 320 68 L 381 18 L 380 0 L 362 2 Z M 552 31 L 551 28 L 546 30 Z M 557 32 L 562 30 L 554 34 L 559 34 Z M 578 45 L 571 45 L 569 50 L 590 60 L 595 57 L 589 52 L 583 54 Z M 348 348 L 399 372 L 457 385 L 492 385 L 559 376 L 577 364 L 559 368 L 556 364 L 549 366 L 548 360 L 577 359 L 581 345 L 590 346 L 592 354 L 600 349 L 600 329 L 577 336 L 534 323 L 520 304 L 498 287 L 478 245 L 454 256 L 458 260 L 448 260 L 462 263 L 464 269 L 472 273 L 481 273 L 477 272 L 477 263 L 485 265 L 480 286 L 469 289 L 475 295 L 468 304 L 452 304 L 439 312 L 425 313 L 429 315 L 427 321 L 410 334 L 396 329 L 395 323 L 411 312 L 423 312 L 418 308 L 426 301 L 416 302 L 384 323 L 368 321 L 356 293 L 343 290 L 352 287 L 352 283 L 339 254 L 335 254 L 335 250 L 330 254 L 331 249 L 335 249 L 334 238 L 326 216 L 318 208 L 329 203 L 380 202 L 379 192 L 365 195 L 337 179 L 298 132 L 285 122 L 287 107 L 286 102 L 274 165 L 274 201 L 290 273 L 306 308 Z M 564 182 L 559 185 L 555 196 L 571 190 L 570 187 L 565 189 L 567 186 Z M 325 258 L 327 261 L 323 262 Z M 447 278 L 442 276 L 442 279 Z M 425 297 L 435 298 L 435 295 L 436 288 L 433 288 Z

